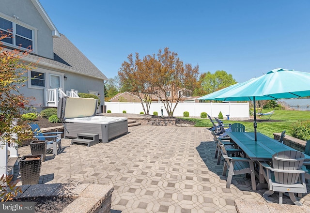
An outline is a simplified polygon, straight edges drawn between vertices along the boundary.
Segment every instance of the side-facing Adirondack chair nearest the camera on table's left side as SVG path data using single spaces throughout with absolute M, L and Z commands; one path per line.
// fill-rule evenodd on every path
M 220 146 L 221 146 L 222 155 L 225 158 L 225 163 L 224 163 L 223 173 L 222 173 L 223 176 L 226 176 L 226 172 L 228 168 L 226 188 L 230 188 L 233 175 L 249 173 L 251 176 L 252 190 L 256 191 L 255 171 L 254 171 L 253 161 L 250 158 L 246 158 L 246 157 L 230 157 L 228 156 L 225 146 L 223 144 L 221 144 Z

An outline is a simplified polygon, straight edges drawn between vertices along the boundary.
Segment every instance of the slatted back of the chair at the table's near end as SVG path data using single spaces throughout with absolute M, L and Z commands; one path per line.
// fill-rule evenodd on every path
M 273 168 L 275 169 L 275 181 L 281 184 L 295 184 L 299 173 L 288 170 L 298 170 L 304 162 L 305 155 L 299 151 L 283 151 L 272 156 Z

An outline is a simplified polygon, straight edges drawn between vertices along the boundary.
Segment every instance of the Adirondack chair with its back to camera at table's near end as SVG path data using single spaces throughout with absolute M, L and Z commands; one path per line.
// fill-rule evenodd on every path
M 268 196 L 279 192 L 279 204 L 282 204 L 284 192 L 288 192 L 295 205 L 302 206 L 294 193 L 307 193 L 305 170 L 302 170 L 304 154 L 299 151 L 283 151 L 272 156 L 273 167 L 260 162 L 264 167 L 264 177 L 268 183 L 268 191 L 263 198 L 270 202 Z

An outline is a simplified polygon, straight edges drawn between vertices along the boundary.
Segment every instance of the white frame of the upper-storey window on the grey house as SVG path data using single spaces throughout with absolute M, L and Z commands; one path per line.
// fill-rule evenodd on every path
M 32 49 L 31 49 L 31 52 L 37 54 L 37 48 L 36 48 L 36 46 L 37 46 L 37 39 L 36 39 L 36 38 L 37 38 L 37 31 L 38 31 L 38 29 L 35 28 L 35 27 L 32 27 L 32 26 L 30 26 L 30 25 L 28 25 L 28 24 L 26 24 L 26 23 L 23 23 L 22 21 L 20 21 L 20 20 L 18 19 L 17 16 L 16 16 L 17 18 L 13 18 L 13 17 L 10 17 L 10 16 L 5 15 L 5 14 L 3 14 L 3 13 L 0 12 L 0 17 L 3 18 L 3 19 L 5 19 L 5 20 L 7 20 L 7 21 L 12 22 L 12 28 L 13 28 L 13 29 L 12 29 L 13 31 L 8 31 L 8 29 L 0 29 L 1 31 L 4 31 L 4 33 L 6 33 L 6 32 L 12 33 L 12 36 L 13 36 L 13 44 L 6 43 L 6 42 L 2 41 L 3 44 L 5 44 L 5 46 L 10 46 L 10 47 L 14 47 L 14 48 L 18 47 L 18 48 L 20 48 L 21 50 L 29 50 L 29 49 L 27 49 L 27 48 L 18 46 L 18 44 L 16 45 L 16 35 L 17 35 L 17 36 L 19 36 L 19 37 L 21 37 L 21 38 L 25 38 L 25 39 L 27 39 L 27 40 L 30 40 L 31 43 L 32 43 L 32 45 L 31 45 L 31 48 L 32 48 Z M 31 32 L 32 32 L 32 39 L 27 38 L 27 37 L 24 37 L 24 36 L 19 35 L 19 34 L 16 34 L 16 24 L 18 24 L 18 25 L 20 25 L 20 26 L 22 26 L 22 27 L 24 27 L 24 28 L 27 28 L 27 29 L 31 30 Z

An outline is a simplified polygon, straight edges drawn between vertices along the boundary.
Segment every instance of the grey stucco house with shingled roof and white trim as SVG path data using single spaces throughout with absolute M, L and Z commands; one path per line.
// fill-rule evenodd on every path
M 26 86 L 19 90 L 25 96 L 35 98 L 31 106 L 39 112 L 50 107 L 47 89 L 54 88 L 62 88 L 63 92 L 74 90 L 96 94 L 104 105 L 104 83 L 108 78 L 58 32 L 38 0 L 1 0 L 0 17 L 33 31 L 33 51 L 21 61 L 35 63 L 36 68 L 28 71 Z M 8 43 L 4 46 L 8 51 L 17 48 Z M 44 85 L 32 84 L 31 72 L 43 74 Z

